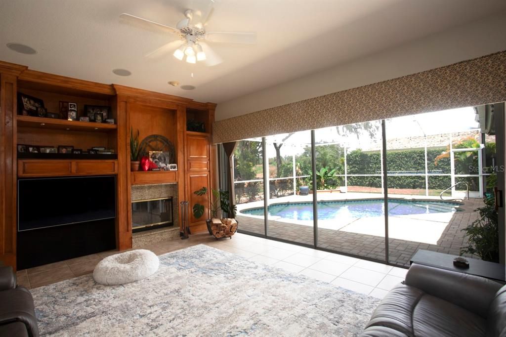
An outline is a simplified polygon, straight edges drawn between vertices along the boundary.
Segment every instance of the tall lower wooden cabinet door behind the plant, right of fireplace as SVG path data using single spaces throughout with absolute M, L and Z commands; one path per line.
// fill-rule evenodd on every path
M 190 230 L 193 232 L 198 232 L 203 229 L 205 229 L 205 220 L 209 218 L 209 194 L 210 191 L 210 177 L 209 173 L 202 172 L 202 173 L 189 173 L 187 175 L 187 194 L 188 194 L 188 201 L 190 202 L 188 205 L 188 213 L 189 213 L 189 222 L 190 222 Z M 204 195 L 196 195 L 194 192 L 200 190 L 202 187 L 207 188 L 207 193 Z M 195 204 L 200 204 L 204 206 L 204 214 L 199 217 L 195 218 L 193 215 L 193 206 Z M 192 229 L 192 227 L 197 227 Z

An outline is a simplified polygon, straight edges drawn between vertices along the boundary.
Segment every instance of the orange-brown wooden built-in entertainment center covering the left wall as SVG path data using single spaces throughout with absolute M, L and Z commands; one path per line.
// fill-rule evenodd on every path
M 114 124 L 52 119 L 18 114 L 18 93 L 40 98 L 48 111 L 59 102 L 76 102 L 78 114 L 85 105 L 110 106 Z M 132 247 L 131 186 L 177 183 L 180 201 L 205 206 L 190 231 L 206 230 L 208 194 L 193 192 L 215 187 L 215 146 L 211 143 L 216 104 L 125 86 L 106 85 L 28 69 L 0 61 L 0 260 L 16 268 L 17 179 L 25 177 L 116 176 L 116 248 Z M 205 132 L 187 131 L 187 120 L 203 123 Z M 139 140 L 162 135 L 175 147 L 177 171 L 137 171 L 130 168 L 131 127 Z M 17 144 L 105 147 L 114 158 L 18 158 Z M 69 196 L 78 191 L 68 191 Z M 40 191 L 44 197 L 44 191 Z M 179 207 L 179 205 L 174 205 Z

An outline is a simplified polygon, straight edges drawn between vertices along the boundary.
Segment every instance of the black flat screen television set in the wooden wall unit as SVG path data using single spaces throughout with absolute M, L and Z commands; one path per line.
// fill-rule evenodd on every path
M 116 217 L 116 178 L 18 180 L 18 231 Z

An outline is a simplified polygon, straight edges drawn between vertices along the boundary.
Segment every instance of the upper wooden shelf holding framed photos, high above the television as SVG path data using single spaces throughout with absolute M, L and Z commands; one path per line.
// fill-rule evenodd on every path
M 95 122 L 82 122 L 77 120 L 66 120 L 56 118 L 43 118 L 33 116 L 16 117 L 18 127 L 26 128 L 46 128 L 54 130 L 67 130 L 67 131 L 97 131 L 109 132 L 118 128 L 116 124 L 95 123 Z

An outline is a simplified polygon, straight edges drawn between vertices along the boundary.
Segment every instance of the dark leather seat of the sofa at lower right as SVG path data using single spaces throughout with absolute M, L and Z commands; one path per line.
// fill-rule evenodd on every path
M 484 336 L 486 321 L 415 287 L 400 284 L 374 310 L 364 330 L 369 334 L 392 335 L 388 329 L 371 331 L 369 327 L 385 327 L 406 336 Z

